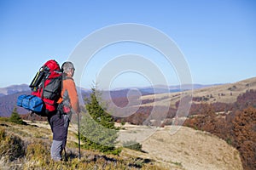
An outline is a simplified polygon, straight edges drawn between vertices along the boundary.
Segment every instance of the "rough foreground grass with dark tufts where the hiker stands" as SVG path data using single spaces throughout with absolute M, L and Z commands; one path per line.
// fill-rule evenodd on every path
M 29 122 L 25 126 L 0 121 L 0 169 L 167 169 L 139 154 L 132 156 L 128 149 L 122 151 L 120 156 L 81 150 L 82 158 L 79 160 L 73 131 L 68 134 L 68 161 L 51 161 L 51 139 L 47 122 Z

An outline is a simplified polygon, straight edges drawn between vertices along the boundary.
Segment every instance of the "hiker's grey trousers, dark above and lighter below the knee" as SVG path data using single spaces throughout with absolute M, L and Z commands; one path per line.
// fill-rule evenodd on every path
M 65 150 L 67 144 L 67 130 L 69 118 L 67 115 L 56 114 L 48 118 L 51 131 L 53 133 L 53 141 L 50 148 L 50 156 L 54 161 L 62 160 L 62 151 Z

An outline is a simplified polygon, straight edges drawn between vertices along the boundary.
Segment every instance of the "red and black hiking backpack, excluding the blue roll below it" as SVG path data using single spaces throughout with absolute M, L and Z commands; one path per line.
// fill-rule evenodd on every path
M 48 60 L 33 78 L 29 87 L 32 95 L 44 101 L 44 109 L 40 116 L 49 116 L 57 109 L 57 100 L 61 97 L 62 71 L 60 65 L 54 60 Z

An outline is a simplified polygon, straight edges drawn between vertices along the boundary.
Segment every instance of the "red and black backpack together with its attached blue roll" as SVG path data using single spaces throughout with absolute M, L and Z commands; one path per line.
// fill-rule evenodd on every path
M 29 87 L 31 95 L 20 95 L 17 105 L 35 112 L 39 116 L 55 113 L 61 97 L 62 71 L 54 60 L 48 60 L 37 72 Z

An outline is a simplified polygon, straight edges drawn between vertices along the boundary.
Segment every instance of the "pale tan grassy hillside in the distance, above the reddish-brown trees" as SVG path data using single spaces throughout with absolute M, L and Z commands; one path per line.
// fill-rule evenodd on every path
M 221 84 L 207 88 L 198 88 L 193 90 L 193 98 L 201 98 L 206 103 L 234 103 L 236 98 L 245 93 L 247 90 L 256 89 L 256 77 L 242 80 L 240 82 Z M 186 94 L 185 92 L 182 92 Z M 141 100 L 150 100 L 154 102 L 146 103 L 141 106 L 150 105 L 172 105 L 175 106 L 176 102 L 180 100 L 181 93 L 172 94 L 152 94 L 141 97 Z M 194 101 L 195 102 L 195 101 Z

